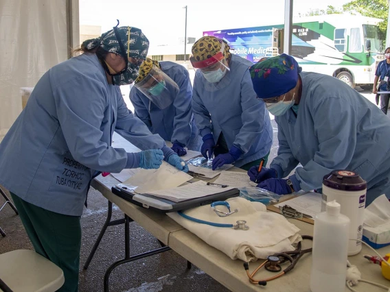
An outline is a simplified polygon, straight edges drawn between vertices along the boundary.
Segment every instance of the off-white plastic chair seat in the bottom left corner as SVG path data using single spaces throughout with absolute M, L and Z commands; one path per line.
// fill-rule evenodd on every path
M 54 292 L 65 282 L 62 269 L 32 250 L 0 254 L 0 291 Z

